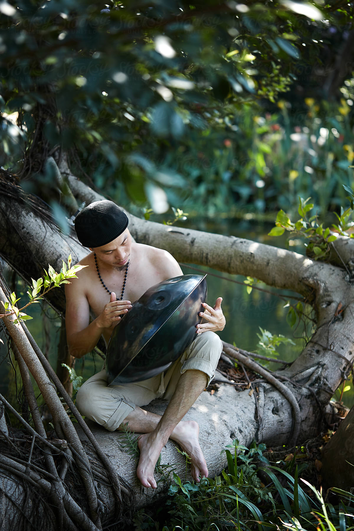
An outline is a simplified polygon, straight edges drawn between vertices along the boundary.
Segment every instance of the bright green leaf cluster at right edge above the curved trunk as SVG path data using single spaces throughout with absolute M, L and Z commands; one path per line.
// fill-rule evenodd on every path
M 281 236 L 286 230 L 290 232 L 291 236 L 301 236 L 305 238 L 306 253 L 314 260 L 325 260 L 330 253 L 331 243 L 334 242 L 339 235 L 354 237 L 353 233 L 348 233 L 348 229 L 354 226 L 354 222 L 350 221 L 353 213 L 353 199 L 354 193 L 349 186 L 344 186 L 347 192 L 350 193 L 348 199 L 351 204 L 347 209 L 341 207 L 340 215 L 335 212 L 338 218 L 338 224 L 332 224 L 333 233 L 329 227 L 324 228 L 323 223 L 318 220 L 317 214 L 308 217 L 308 213 L 313 209 L 313 203 L 309 203 L 310 198 L 304 200 L 299 197 L 298 213 L 300 219 L 292 222 L 283 210 L 280 210 L 275 220 L 275 227 L 269 233 L 269 236 Z M 290 318 L 292 321 L 293 318 Z M 296 321 L 296 318 L 295 318 Z M 295 321 L 293 324 L 295 324 Z M 292 326 L 292 324 L 291 324 Z

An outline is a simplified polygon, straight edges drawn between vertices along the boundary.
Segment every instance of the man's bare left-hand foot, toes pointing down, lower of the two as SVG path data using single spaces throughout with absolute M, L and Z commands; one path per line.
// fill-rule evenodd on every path
M 153 433 L 140 435 L 137 440 L 137 446 L 140 450 L 139 465 L 136 469 L 136 475 L 144 487 L 157 488 L 157 483 L 153 476 L 155 465 L 160 456 L 161 450 L 165 444 L 158 440 Z

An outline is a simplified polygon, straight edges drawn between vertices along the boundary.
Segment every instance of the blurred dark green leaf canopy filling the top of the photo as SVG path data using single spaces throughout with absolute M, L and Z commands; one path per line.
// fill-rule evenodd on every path
M 349 8 L 337 9 L 334 0 L 308 6 L 5 2 L 0 165 L 31 175 L 23 181 L 27 191 L 56 193 L 46 159 L 59 145 L 74 173 L 104 184 L 120 203 L 130 198 L 154 212 L 187 199 L 201 210 L 210 202 L 211 212 L 249 198 L 262 211 L 277 194 L 288 202 L 288 188 L 305 186 L 308 174 L 300 177 L 300 162 L 289 166 L 297 150 L 294 144 L 289 151 L 287 108 L 271 115 L 258 102 L 275 102 L 293 82 L 303 84 L 309 65 L 326 71 L 328 50 L 341 48 L 338 36 L 351 23 Z M 321 177 L 332 153 L 346 173 L 343 141 L 327 149 L 330 134 L 323 148 L 317 145 L 321 127 L 348 135 L 350 145 L 346 90 L 344 114 L 327 113 L 331 127 L 314 125 L 316 105 L 309 109 L 316 153 L 304 150 L 301 160 L 306 166 L 308 157 L 316 159 Z M 295 181 L 284 179 L 289 170 L 299 173 Z

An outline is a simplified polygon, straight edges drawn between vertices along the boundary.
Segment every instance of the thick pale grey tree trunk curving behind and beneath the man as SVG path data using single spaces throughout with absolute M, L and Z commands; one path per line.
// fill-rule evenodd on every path
M 60 169 L 68 177 L 78 202 L 86 201 L 88 204 L 103 199 L 72 176 L 64 162 Z M 5 227 L 0 234 L 1 253 L 26 278 L 35 277 L 40 264 L 49 262 L 58 270 L 62 259 L 66 259 L 69 253 L 73 255 L 73 263 L 87 254 L 73 235 L 65 238 L 46 220 L 23 208 L 20 201 L 12 201 L 10 208 L 6 197 L 0 196 L 0 208 L 1 223 Z M 273 373 L 287 393 L 268 383 L 262 375 L 253 394 L 249 390 L 237 392 L 234 387 L 221 384 L 219 391 L 213 395 L 203 392 L 186 415 L 186 419 L 193 418 L 200 424 L 201 447 L 211 475 L 225 467 L 225 454 L 220 456 L 220 450 L 232 439 L 237 438 L 246 445 L 256 439 L 279 446 L 286 444 L 296 431 L 301 440 L 313 437 L 318 432 L 331 396 L 350 371 L 354 358 L 351 340 L 354 298 L 346 271 L 336 265 L 316 262 L 297 253 L 244 238 L 169 227 L 131 215 L 129 229 L 137 242 L 166 249 L 179 261 L 253 276 L 268 285 L 292 289 L 303 295 L 315 310 L 317 331 L 288 369 Z M 63 311 L 61 290 L 51 293 L 51 302 Z M 218 379 L 223 378 L 218 375 Z M 295 408 L 291 406 L 289 396 L 298 404 L 295 423 Z M 158 400 L 148 408 L 162 413 L 165 405 Z M 141 493 L 135 463 L 126 453 L 119 451 L 124 435 L 90 425 L 102 449 L 116 466 L 117 473 L 135 486 L 138 506 L 156 499 L 163 487 L 159 487 L 157 492 Z M 80 429 L 78 431 L 83 438 Z M 167 463 L 177 464 L 176 472 L 184 477 L 185 462 L 171 441 L 162 451 L 161 464 Z

